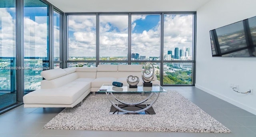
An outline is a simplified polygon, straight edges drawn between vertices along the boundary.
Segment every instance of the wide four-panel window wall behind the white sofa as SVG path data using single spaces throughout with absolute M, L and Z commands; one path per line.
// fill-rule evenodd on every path
M 195 12 L 66 15 L 68 67 L 150 61 L 162 85 L 194 85 Z

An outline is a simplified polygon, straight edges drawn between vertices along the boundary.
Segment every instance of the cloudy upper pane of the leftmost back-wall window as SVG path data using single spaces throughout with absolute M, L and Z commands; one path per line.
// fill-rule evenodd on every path
M 96 56 L 96 16 L 68 16 L 68 56 Z

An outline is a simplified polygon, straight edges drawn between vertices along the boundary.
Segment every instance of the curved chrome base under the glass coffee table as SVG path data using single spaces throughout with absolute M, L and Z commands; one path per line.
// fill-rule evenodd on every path
M 118 101 L 119 103 L 122 103 L 122 104 L 124 104 L 124 105 L 129 105 L 129 106 L 135 106 L 135 107 L 136 107 L 136 105 L 140 105 L 140 104 L 142 104 L 142 103 L 144 103 L 144 102 L 146 103 L 146 101 L 147 101 L 148 99 L 150 99 L 150 97 L 152 97 L 153 94 L 156 94 L 156 97 L 155 97 L 155 99 L 150 103 L 150 105 L 146 105 L 146 108 L 141 109 L 141 110 L 138 110 L 138 111 L 128 111 L 128 110 L 125 110 L 125 109 L 122 109 L 122 108 L 118 107 L 118 105 L 116 105 L 116 104 L 110 99 L 109 94 L 110 94 L 116 101 Z M 160 92 L 152 92 L 146 99 L 144 99 L 144 100 L 142 100 L 142 101 L 140 101 L 140 102 L 137 102 L 137 103 L 126 103 L 126 102 L 124 102 L 124 101 L 121 101 L 121 100 L 118 99 L 112 92 L 109 92 L 109 91 L 106 91 L 106 95 L 107 95 L 108 100 L 110 101 L 110 103 L 111 103 L 116 109 L 118 109 L 118 110 L 120 110 L 120 111 L 123 111 L 123 112 L 126 112 L 126 113 L 140 113 L 140 112 L 146 111 L 147 109 L 149 109 L 150 107 L 152 107 L 152 105 L 153 105 L 153 104 L 156 102 L 156 100 L 158 99 L 158 97 L 159 97 L 159 95 L 160 95 Z

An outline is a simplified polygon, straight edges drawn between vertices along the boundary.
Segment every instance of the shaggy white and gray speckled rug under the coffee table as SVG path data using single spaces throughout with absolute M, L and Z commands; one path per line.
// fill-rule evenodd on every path
M 147 97 L 146 94 L 117 96 L 126 101 Z M 175 91 L 160 93 L 153 105 L 155 115 L 111 115 L 110 106 L 106 94 L 88 95 L 82 106 L 65 108 L 44 128 L 230 133 L 228 128 Z

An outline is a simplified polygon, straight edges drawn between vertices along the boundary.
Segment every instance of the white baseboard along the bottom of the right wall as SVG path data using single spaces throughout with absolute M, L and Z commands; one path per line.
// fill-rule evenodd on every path
M 220 95 L 219 93 L 216 93 L 216 92 L 214 92 L 214 91 L 212 91 L 212 90 L 210 90 L 210 89 L 206 89 L 205 87 L 202 87 L 202 86 L 200 86 L 200 85 L 198 85 L 198 84 L 195 84 L 195 86 L 196 86 L 198 89 L 201 89 L 202 91 L 205 91 L 205 92 L 207 92 L 207 93 L 209 93 L 209 94 L 211 94 L 211 95 L 214 95 L 215 97 L 218 97 L 218 98 L 220 98 L 220 99 L 222 99 L 222 100 L 224 100 L 224 101 L 227 101 L 228 103 L 231 103 L 231 104 L 233 104 L 233 105 L 235 105 L 235 106 L 237 106 L 237 107 L 240 107 L 241 109 L 244 109 L 244 110 L 246 110 L 246 111 L 248 111 L 248 112 L 253 113 L 254 115 L 256 115 L 256 109 L 254 109 L 254 108 L 252 108 L 252 107 L 248 107 L 248 106 L 246 106 L 246 105 L 244 105 L 244 104 L 242 104 L 242 103 L 240 103 L 240 102 L 237 102 L 237 101 L 235 101 L 235 100 L 233 100 L 233 99 L 230 99 L 230 98 L 228 98 L 228 97 L 226 97 L 226 96 Z

